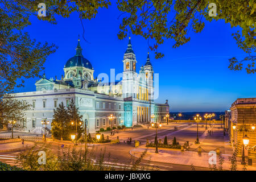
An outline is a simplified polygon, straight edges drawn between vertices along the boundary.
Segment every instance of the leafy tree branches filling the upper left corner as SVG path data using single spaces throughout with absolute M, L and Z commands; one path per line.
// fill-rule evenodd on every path
M 15 86 L 24 86 L 23 78 L 38 77 L 47 56 L 56 51 L 54 44 L 31 40 L 28 33 L 23 31 L 31 24 L 31 16 L 36 15 L 39 20 L 56 24 L 56 15 L 67 18 L 76 11 L 80 19 L 92 19 L 98 9 L 110 5 L 105 0 L 43 2 L 47 5 L 47 15 L 39 17 L 40 0 L 0 0 L 0 98 L 4 93 L 12 92 Z M 22 78 L 22 83 L 16 84 L 19 78 Z

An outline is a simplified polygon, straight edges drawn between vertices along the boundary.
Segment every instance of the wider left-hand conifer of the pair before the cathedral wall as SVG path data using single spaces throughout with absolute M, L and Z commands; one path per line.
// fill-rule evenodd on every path
M 65 108 L 63 102 L 59 104 L 59 107 L 53 109 L 53 119 L 51 123 L 52 136 L 56 139 L 63 138 L 69 140 L 70 120 L 68 110 Z

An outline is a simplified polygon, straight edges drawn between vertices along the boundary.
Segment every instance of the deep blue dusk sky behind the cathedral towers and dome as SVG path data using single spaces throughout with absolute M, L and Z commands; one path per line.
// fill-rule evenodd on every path
M 85 38 L 81 39 L 82 54 L 94 68 L 94 77 L 100 73 L 110 74 L 123 69 L 123 53 L 127 48 L 128 39 L 117 37 L 120 12 L 115 3 L 109 9 L 100 9 L 96 18 L 84 20 Z M 77 36 L 82 35 L 82 26 L 77 14 L 69 18 L 57 16 L 57 24 L 31 18 L 31 25 L 26 31 L 31 38 L 39 42 L 55 43 L 59 48 L 48 56 L 44 64 L 46 77 L 64 74 L 66 61 L 75 55 Z M 154 59 L 150 52 L 151 63 L 155 73 L 159 73 L 159 98 L 156 102 L 168 100 L 171 111 L 224 111 L 237 99 L 255 97 L 255 75 L 247 75 L 245 71 L 234 72 L 228 69 L 228 59 L 236 56 L 242 59 L 246 54 L 237 47 L 231 34 L 239 28 L 231 28 L 224 21 L 206 22 L 200 34 L 190 31 L 191 41 L 172 48 L 173 40 L 159 47 L 164 53 L 163 59 Z M 146 63 L 147 40 L 131 35 L 131 43 L 137 57 L 137 72 Z M 43 72 L 42 72 L 43 73 Z M 26 80 L 24 88 L 15 92 L 35 90 L 35 81 L 39 78 Z

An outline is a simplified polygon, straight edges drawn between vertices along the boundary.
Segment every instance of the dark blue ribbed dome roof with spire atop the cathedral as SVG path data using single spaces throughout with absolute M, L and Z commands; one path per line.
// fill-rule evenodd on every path
M 90 61 L 85 59 L 84 56 L 82 56 L 82 48 L 80 46 L 80 40 L 76 47 L 76 55 L 74 57 L 71 57 L 65 64 L 65 68 L 68 67 L 85 67 L 88 69 L 93 69 L 92 64 L 90 64 Z

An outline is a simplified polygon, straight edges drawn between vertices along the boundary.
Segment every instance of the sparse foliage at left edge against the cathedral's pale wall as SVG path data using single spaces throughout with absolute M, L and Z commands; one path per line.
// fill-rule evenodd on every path
M 0 99 L 0 124 L 7 125 L 9 120 L 16 121 L 13 125 L 15 129 L 22 129 L 25 125 L 26 114 L 24 111 L 29 110 L 31 105 L 23 100 L 16 100 L 11 95 L 5 95 Z

